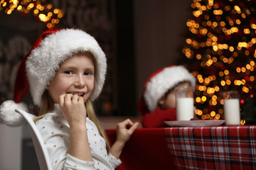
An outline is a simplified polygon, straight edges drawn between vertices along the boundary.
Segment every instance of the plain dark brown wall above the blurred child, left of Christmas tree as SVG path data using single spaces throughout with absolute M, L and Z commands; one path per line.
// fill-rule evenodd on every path
M 191 1 L 135 0 L 134 39 L 137 62 L 137 100 L 149 75 L 184 57 L 186 20 Z

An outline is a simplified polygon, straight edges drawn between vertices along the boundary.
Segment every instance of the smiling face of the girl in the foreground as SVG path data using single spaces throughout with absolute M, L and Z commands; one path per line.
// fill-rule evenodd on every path
M 60 65 L 50 81 L 48 91 L 54 103 L 59 103 L 62 94 L 78 94 L 87 99 L 94 89 L 95 67 L 90 52 L 80 52 Z

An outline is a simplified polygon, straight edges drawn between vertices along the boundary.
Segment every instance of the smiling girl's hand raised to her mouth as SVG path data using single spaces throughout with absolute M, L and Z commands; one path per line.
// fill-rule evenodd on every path
M 82 96 L 63 94 L 59 96 L 60 110 L 68 124 L 86 123 L 86 108 Z

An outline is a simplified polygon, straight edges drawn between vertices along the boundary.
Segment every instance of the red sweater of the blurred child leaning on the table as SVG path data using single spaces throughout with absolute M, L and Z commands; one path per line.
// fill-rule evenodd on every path
M 143 128 L 164 128 L 169 127 L 164 121 L 176 120 L 176 108 L 161 110 L 159 107 L 154 112 L 142 115 Z

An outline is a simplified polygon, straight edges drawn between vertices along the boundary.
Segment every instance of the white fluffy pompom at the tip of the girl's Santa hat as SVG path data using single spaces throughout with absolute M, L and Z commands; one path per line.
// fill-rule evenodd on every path
M 11 100 L 4 101 L 0 107 L 0 120 L 11 127 L 17 127 L 25 123 L 24 118 L 19 113 L 16 113 L 15 109 L 28 112 L 28 107 L 25 103 L 15 103 Z

